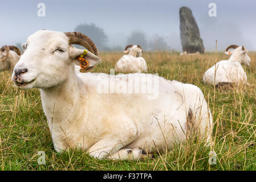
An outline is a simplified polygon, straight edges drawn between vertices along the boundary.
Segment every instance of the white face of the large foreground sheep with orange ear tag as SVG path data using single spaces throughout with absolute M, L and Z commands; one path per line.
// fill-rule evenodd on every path
M 74 70 L 72 62 L 80 63 L 75 58 L 83 53 L 83 49 L 68 44 L 68 37 L 63 32 L 47 30 L 29 36 L 23 48 L 25 52 L 15 65 L 11 78 L 21 89 L 51 88 L 62 84 Z

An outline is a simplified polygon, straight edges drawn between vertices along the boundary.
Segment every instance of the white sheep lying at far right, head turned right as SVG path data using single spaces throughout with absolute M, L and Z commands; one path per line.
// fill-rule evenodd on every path
M 228 51 L 230 48 L 234 48 L 233 51 Z M 247 76 L 243 67 L 240 63 L 250 65 L 251 59 L 247 55 L 247 50 L 244 46 L 239 47 L 231 45 L 226 48 L 227 55 L 231 56 L 228 60 L 221 60 L 213 67 L 209 68 L 204 76 L 203 81 L 207 84 L 214 85 L 214 74 L 216 70 L 216 80 L 215 84 L 226 85 L 226 84 L 245 84 L 247 81 Z

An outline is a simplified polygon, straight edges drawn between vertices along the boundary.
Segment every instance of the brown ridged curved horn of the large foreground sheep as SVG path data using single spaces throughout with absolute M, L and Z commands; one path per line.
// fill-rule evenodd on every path
M 79 46 L 83 46 L 88 49 L 94 55 L 99 55 L 97 52 L 97 47 L 94 42 L 88 36 L 82 34 L 81 32 L 65 32 L 65 34 L 69 38 L 69 44 L 76 44 Z

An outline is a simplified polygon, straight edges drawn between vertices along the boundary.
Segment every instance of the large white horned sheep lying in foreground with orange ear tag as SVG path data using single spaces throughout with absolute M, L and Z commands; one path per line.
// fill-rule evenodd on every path
M 157 97 L 149 99 L 143 88 L 150 86 L 147 79 L 153 75 L 77 74 L 74 67 L 84 50 L 71 44 L 88 49 L 87 70 L 101 63 L 95 44 L 86 35 L 41 30 L 27 39 L 26 51 L 12 75 L 17 88 L 40 89 L 57 152 L 81 147 L 99 159 L 140 159 L 145 151 L 171 149 L 192 130 L 209 142 L 212 115 L 197 86 L 154 76 Z M 102 84 L 120 86 L 138 80 L 139 87 L 129 87 L 131 93 L 99 91 Z

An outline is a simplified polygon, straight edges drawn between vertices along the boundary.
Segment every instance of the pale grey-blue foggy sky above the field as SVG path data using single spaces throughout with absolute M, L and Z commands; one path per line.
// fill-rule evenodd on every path
M 37 15 L 38 3 L 46 5 L 46 16 Z M 208 15 L 209 3 L 217 5 L 217 17 Z M 108 35 L 108 46 L 125 46 L 133 30 L 143 31 L 149 40 L 164 36 L 171 49 L 181 51 L 178 11 L 187 6 L 200 28 L 206 51 L 224 51 L 230 44 L 256 51 L 256 1 L 250 0 L 53 0 L 0 3 L 0 46 L 26 42 L 27 36 L 46 28 L 74 31 L 80 23 L 95 23 Z

